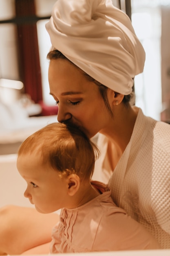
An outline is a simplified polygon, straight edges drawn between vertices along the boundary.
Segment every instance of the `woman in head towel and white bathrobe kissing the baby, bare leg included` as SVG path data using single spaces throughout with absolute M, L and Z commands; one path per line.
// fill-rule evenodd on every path
M 46 28 L 58 121 L 77 124 L 88 137 L 100 132 L 97 177 L 106 182 L 113 174 L 116 204 L 170 248 L 170 126 L 130 106 L 133 78 L 145 61 L 130 20 L 111 0 L 58 0 Z M 0 221 L 1 254 L 48 252 L 56 214 L 6 207 Z

